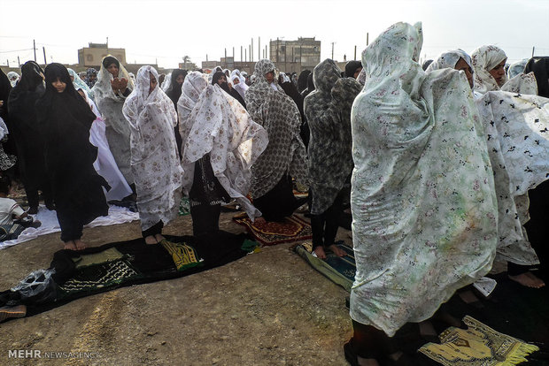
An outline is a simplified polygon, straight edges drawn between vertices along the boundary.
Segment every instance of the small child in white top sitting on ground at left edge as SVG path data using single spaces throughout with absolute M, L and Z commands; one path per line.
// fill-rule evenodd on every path
M 19 204 L 8 198 L 12 194 L 12 182 L 6 176 L 0 176 L 0 240 L 17 239 L 19 233 L 27 227 L 39 227 L 40 221 L 35 221 Z M 15 219 L 15 220 L 14 220 Z

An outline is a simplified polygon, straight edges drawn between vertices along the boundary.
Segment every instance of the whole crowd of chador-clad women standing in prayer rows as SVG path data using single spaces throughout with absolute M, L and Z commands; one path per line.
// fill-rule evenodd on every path
M 352 214 L 345 356 L 396 362 L 399 330 L 437 315 L 495 260 L 530 287 L 545 286 L 547 264 L 549 58 L 507 65 L 486 45 L 421 67 L 422 37 L 421 24 L 397 23 L 344 72 L 326 59 L 299 75 L 268 59 L 252 75 L 164 78 L 148 65 L 134 76 L 112 56 L 80 74 L 28 61 L 19 80 L 1 74 L 2 174 L 22 182 L 28 214 L 42 192 L 73 250 L 107 202 L 134 205 L 156 244 L 183 194 L 201 235 L 219 230 L 233 200 L 252 221 L 282 221 L 305 203 L 294 188 L 307 187 L 314 255 L 345 255 L 336 233 Z M 3 224 L 24 214 L 9 186 Z

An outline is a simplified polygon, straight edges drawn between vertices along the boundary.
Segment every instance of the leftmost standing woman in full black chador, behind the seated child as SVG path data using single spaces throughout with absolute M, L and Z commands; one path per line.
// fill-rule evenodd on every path
M 21 66 L 21 80 L 8 100 L 10 127 L 16 143 L 21 180 L 27 194 L 28 213 L 38 212 L 38 190 L 48 210 L 53 210 L 50 182 L 45 170 L 43 134 L 38 125 L 35 103 L 44 93 L 43 70 L 34 61 Z

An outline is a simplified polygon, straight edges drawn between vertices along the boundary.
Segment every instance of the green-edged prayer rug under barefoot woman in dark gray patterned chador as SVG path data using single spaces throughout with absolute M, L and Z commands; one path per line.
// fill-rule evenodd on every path
M 313 243 L 310 241 L 299 244 L 294 250 L 298 255 L 301 255 L 307 263 L 311 264 L 316 271 L 321 272 L 321 274 L 331 281 L 344 287 L 348 292 L 351 292 L 354 273 L 357 270 L 357 266 L 354 263 L 354 252 L 343 240 L 337 241 L 336 246 L 343 249 L 347 255 L 340 257 L 331 252 L 327 252 L 326 259 L 322 260 L 312 254 Z

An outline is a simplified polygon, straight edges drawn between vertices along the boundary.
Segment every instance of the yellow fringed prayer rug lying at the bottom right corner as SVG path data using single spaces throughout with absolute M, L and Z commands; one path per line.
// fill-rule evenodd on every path
M 511 366 L 527 362 L 525 357 L 539 350 L 471 316 L 463 322 L 468 329 L 448 328 L 438 336 L 441 344 L 428 343 L 420 352 L 445 366 Z

